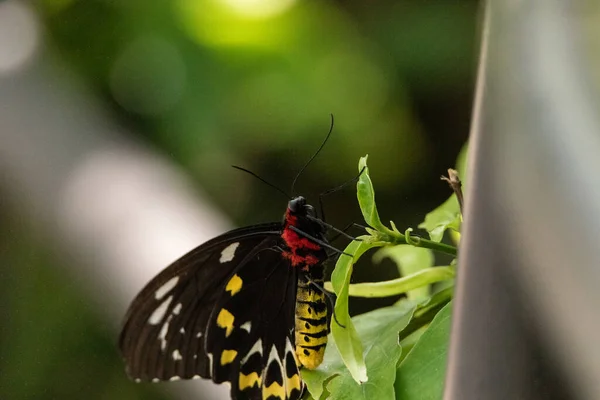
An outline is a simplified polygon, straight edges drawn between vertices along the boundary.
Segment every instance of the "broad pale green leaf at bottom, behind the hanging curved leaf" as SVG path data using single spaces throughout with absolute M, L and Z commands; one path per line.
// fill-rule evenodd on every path
M 315 399 L 395 399 L 396 366 L 402 355 L 398 333 L 408 325 L 414 309 L 413 303 L 406 302 L 354 318 L 356 330 L 365 344 L 363 355 L 370 376 L 362 385 L 357 384 L 344 367 L 335 339 L 330 336 L 323 364 L 314 371 L 302 371 L 311 395 Z M 325 391 L 329 396 L 324 396 Z

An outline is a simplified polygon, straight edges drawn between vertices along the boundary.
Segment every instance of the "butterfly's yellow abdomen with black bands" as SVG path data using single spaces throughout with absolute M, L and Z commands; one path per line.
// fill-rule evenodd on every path
M 320 275 L 320 274 L 319 274 Z M 300 274 L 296 291 L 296 356 L 304 368 L 315 369 L 323 362 L 327 345 L 327 299 L 321 276 L 307 278 Z

